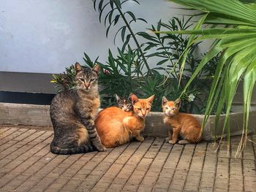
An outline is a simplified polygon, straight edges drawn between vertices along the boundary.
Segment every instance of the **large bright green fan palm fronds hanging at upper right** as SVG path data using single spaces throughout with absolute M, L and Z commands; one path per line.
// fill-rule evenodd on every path
M 189 52 L 194 43 L 204 39 L 216 40 L 202 61 L 200 61 L 187 85 L 185 85 L 183 93 L 186 92 L 189 85 L 195 80 L 197 74 L 203 70 L 208 61 L 221 54 L 208 96 L 203 126 L 205 126 L 215 102 L 217 102 L 217 122 L 223 105 L 226 105 L 222 133 L 227 133 L 228 151 L 230 148 L 230 109 L 238 83 L 244 80 L 244 126 L 236 154 L 239 155 L 246 145 L 250 102 L 256 80 L 256 6 L 255 4 L 246 4 L 238 0 L 172 1 L 205 12 L 192 30 L 160 32 L 162 34 L 190 34 L 187 49 L 181 55 L 181 60 L 187 58 L 187 52 Z M 203 24 L 210 25 L 205 27 Z

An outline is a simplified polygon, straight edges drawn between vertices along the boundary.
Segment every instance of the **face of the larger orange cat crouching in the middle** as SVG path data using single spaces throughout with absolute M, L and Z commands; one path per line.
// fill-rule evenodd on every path
M 148 99 L 138 99 L 135 94 L 131 94 L 133 111 L 140 118 L 146 118 L 148 112 L 151 110 L 151 106 L 154 100 L 154 96 L 148 97 Z

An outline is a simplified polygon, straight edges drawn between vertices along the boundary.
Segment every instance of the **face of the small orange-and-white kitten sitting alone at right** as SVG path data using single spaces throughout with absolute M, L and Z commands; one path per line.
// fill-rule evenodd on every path
M 165 96 L 162 97 L 162 111 L 167 116 L 174 116 L 178 113 L 181 107 L 181 99 L 176 99 L 176 101 L 168 101 Z

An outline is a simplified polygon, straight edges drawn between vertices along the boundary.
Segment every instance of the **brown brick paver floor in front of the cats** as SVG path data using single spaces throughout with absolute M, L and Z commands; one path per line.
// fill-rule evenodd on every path
M 211 142 L 146 137 L 103 153 L 54 155 L 50 130 L 1 126 L 0 138 L 0 191 L 256 191 L 256 145 L 234 158 L 239 137 L 231 158 Z

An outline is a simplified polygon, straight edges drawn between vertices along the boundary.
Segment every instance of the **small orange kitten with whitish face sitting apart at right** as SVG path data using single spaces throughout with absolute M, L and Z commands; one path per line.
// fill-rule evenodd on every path
M 186 113 L 179 113 L 181 99 L 168 101 L 165 96 L 162 98 L 162 110 L 164 112 L 164 123 L 169 126 L 166 140 L 170 144 L 175 144 L 178 137 L 182 139 L 178 144 L 200 142 L 200 123 L 192 116 Z

